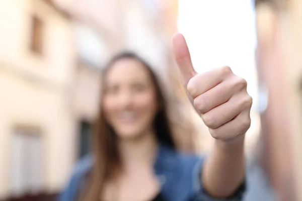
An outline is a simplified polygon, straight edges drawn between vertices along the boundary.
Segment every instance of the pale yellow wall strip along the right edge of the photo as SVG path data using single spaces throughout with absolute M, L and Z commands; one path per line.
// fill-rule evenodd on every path
M 302 200 L 302 2 L 288 1 L 288 11 L 281 26 L 284 36 L 285 66 L 287 69 L 288 105 L 291 140 L 294 145 L 294 170 L 296 200 Z

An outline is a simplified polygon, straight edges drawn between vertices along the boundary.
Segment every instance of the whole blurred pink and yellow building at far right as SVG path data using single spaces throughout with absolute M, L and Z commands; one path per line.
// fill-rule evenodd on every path
M 278 200 L 302 200 L 302 2 L 256 1 L 260 159 Z

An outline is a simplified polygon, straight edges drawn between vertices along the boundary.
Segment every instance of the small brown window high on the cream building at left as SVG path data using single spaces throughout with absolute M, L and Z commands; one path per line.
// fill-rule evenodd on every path
M 41 54 L 43 51 L 43 23 L 37 17 L 32 17 L 31 44 L 33 52 Z

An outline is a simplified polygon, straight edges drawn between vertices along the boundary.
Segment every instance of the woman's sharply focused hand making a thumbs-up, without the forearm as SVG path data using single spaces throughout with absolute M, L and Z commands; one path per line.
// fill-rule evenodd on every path
M 211 136 L 229 141 L 244 135 L 251 125 L 253 102 L 246 80 L 227 66 L 198 74 L 186 40 L 179 33 L 173 37 L 173 49 L 188 97 Z

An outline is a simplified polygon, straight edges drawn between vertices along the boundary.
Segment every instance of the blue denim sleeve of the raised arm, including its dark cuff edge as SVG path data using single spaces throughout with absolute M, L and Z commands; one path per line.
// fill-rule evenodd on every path
M 207 194 L 201 178 L 206 155 L 186 154 L 171 149 L 164 150 L 161 158 L 166 157 L 166 159 L 162 159 L 161 167 L 164 169 L 162 172 L 166 178 L 163 194 L 167 200 L 242 200 L 245 183 L 229 198 L 217 199 Z

